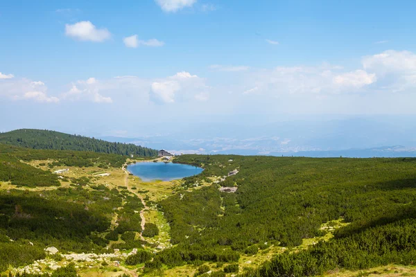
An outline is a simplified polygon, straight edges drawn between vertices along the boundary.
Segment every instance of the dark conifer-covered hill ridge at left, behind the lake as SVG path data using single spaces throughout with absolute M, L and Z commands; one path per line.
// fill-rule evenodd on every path
M 0 133 L 0 143 L 44 150 L 76 150 L 121 155 L 133 154 L 141 157 L 157 156 L 157 150 L 143 148 L 132 143 L 110 143 L 101 139 L 41 129 L 17 129 L 11 132 Z

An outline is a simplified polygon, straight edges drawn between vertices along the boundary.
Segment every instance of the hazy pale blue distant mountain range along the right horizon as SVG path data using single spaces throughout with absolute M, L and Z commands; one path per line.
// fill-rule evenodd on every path
M 410 119 L 294 120 L 264 125 L 204 123 L 180 131 L 173 125 L 164 127 L 161 134 L 101 139 L 185 154 L 415 157 L 416 125 Z

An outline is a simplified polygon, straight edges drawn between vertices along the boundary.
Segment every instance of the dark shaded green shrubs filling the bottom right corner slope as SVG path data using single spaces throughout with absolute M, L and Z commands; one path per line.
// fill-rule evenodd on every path
M 336 268 L 367 269 L 389 263 L 413 265 L 416 261 L 416 206 L 397 218 L 386 218 L 374 227 L 345 230 L 330 242 L 320 242 L 298 253 L 285 252 L 266 262 L 261 269 L 245 274 L 257 276 L 316 276 Z M 406 218 L 408 219 L 400 219 Z M 390 220 L 394 221 L 385 224 Z M 381 226 L 380 226 L 381 225 Z

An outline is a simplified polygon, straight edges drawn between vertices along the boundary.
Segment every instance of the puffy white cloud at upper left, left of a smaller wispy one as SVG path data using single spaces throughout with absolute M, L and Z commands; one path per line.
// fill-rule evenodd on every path
M 68 37 L 89 42 L 104 42 L 111 37 L 111 33 L 106 28 L 98 29 L 90 21 L 66 24 L 65 34 Z

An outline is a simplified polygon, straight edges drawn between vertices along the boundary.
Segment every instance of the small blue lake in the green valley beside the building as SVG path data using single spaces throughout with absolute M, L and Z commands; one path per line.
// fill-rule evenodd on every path
M 171 181 L 198 175 L 202 168 L 180 163 L 135 163 L 127 167 L 127 170 L 143 181 L 162 180 Z

